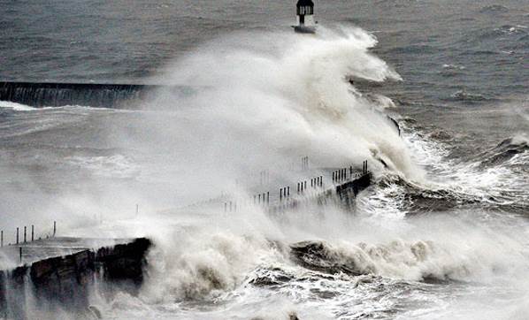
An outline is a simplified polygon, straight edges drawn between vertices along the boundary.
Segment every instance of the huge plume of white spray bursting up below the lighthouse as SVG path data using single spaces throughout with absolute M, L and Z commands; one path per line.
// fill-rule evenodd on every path
M 180 155 L 200 150 L 232 175 L 248 175 L 244 168 L 286 166 L 298 154 L 310 155 L 315 166 L 370 159 L 372 168 L 381 170 L 383 160 L 418 178 L 395 126 L 346 80 L 400 80 L 369 52 L 375 44 L 359 29 L 326 30 L 316 37 L 236 34 L 203 45 L 160 76 L 195 86 L 195 95 L 172 97 L 162 90 L 147 108 L 174 111 L 173 126 L 159 130 L 186 141 L 172 144 Z

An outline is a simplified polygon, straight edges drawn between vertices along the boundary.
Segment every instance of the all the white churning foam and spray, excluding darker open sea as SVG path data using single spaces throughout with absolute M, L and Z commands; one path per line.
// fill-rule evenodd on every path
M 358 27 L 234 32 L 145 79 L 185 93 L 160 88 L 126 110 L 0 102 L 2 198 L 14 203 L 3 225 L 151 239 L 139 294 L 94 288 L 105 319 L 525 319 L 527 131 L 461 156 L 465 137 L 380 90 L 406 78 L 378 45 Z M 526 128 L 526 104 L 509 110 Z M 367 159 L 373 185 L 355 210 L 193 206 L 249 198 L 263 170 L 295 184 L 302 156 L 313 168 Z

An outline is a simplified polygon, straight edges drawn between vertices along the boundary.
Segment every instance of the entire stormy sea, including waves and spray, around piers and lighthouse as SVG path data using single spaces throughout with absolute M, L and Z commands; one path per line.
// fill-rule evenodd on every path
M 93 294 L 104 318 L 526 319 L 529 3 L 316 5 L 312 36 L 294 1 L 0 0 L 0 81 L 190 88 L 0 102 L 0 229 L 151 237 L 139 296 Z M 295 185 L 305 155 L 368 159 L 374 185 L 354 212 L 186 207 Z

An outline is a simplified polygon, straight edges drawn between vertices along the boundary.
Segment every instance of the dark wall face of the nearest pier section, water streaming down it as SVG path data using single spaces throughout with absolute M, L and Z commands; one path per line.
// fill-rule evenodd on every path
M 102 280 L 105 289 L 125 288 L 134 294 L 142 285 L 150 246 L 150 240 L 141 238 L 0 271 L 0 318 L 31 318 L 28 304 L 36 309 L 87 312 L 96 280 Z

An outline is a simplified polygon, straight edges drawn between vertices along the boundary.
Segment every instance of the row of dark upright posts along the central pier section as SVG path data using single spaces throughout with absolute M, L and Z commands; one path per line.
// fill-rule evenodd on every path
M 307 169 L 309 165 L 309 157 L 303 156 L 302 158 L 302 168 Z M 333 171 L 333 183 L 345 181 L 348 179 L 348 171 L 349 171 L 349 179 L 359 178 L 360 175 L 354 175 L 354 169 L 353 166 L 349 166 L 349 168 L 342 168 L 337 171 Z M 364 161 L 362 164 L 362 176 L 368 173 L 367 169 L 367 160 Z M 264 180 L 269 182 L 269 172 L 268 171 L 261 171 L 260 176 L 260 182 L 263 184 Z M 266 177 L 264 179 L 264 177 Z M 318 176 L 310 179 L 311 181 L 311 188 L 317 188 L 317 187 L 323 187 L 323 176 Z M 296 191 L 297 194 L 304 194 L 304 192 L 307 190 L 307 180 L 303 180 L 300 182 L 297 182 L 296 185 Z M 286 202 L 290 199 L 290 187 L 280 187 L 280 203 Z M 255 194 L 253 195 L 253 204 L 254 205 L 270 205 L 270 192 L 265 192 L 263 194 Z M 233 212 L 237 211 L 237 202 L 234 201 L 228 201 L 224 202 L 224 212 Z

